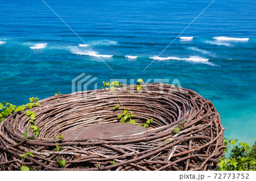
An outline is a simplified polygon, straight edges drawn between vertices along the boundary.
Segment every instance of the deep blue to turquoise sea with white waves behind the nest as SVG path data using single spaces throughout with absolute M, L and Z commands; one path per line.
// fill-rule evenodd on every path
M 45 2 L 95 52 L 43 1 L 0 0 L 1 101 L 71 93 L 81 73 L 98 88 L 110 78 L 178 79 L 213 102 L 225 137 L 255 141 L 256 1 L 216 0 L 176 40 L 211 0 Z

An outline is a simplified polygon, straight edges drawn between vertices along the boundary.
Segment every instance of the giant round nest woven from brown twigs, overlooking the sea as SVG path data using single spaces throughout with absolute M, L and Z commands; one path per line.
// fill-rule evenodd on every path
M 163 91 L 159 91 L 163 90 Z M 85 99 L 86 94 L 86 99 Z M 90 125 L 118 123 L 113 111 L 119 104 L 117 94 L 108 90 L 75 92 L 40 100 L 35 123 L 40 134 L 24 140 L 29 127 L 26 113 L 15 112 L 0 124 L 0 170 L 215 170 L 224 155 L 224 127 L 210 100 L 188 89 L 152 83 L 139 92 L 134 86 L 118 90 L 123 106 L 135 113 L 137 124 L 153 118 L 147 131 L 134 136 L 84 138 L 63 141 L 55 136 Z M 185 127 L 173 134 L 183 120 Z M 125 123 L 129 124 L 129 123 Z M 29 130 L 29 134 L 32 130 Z M 170 141 L 164 141 L 170 140 Z M 57 143 L 58 142 L 58 143 Z M 56 152 L 56 144 L 63 150 Z M 65 167 L 57 163 L 61 158 Z M 115 161 L 115 164 L 111 162 Z M 100 168 L 96 165 L 100 163 Z

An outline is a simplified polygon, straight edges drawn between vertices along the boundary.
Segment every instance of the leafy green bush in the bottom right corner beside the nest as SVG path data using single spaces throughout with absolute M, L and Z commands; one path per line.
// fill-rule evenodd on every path
M 238 146 L 231 146 L 236 144 L 238 140 L 224 139 L 226 146 L 225 157 L 222 157 L 218 162 L 219 171 L 241 171 L 241 170 L 256 170 L 256 141 L 251 147 L 245 142 L 240 142 Z M 229 150 L 231 149 L 230 153 Z

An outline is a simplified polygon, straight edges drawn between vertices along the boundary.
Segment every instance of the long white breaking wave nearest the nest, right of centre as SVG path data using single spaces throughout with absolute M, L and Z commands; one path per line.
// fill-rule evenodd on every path
M 208 64 L 208 65 L 212 65 L 212 66 L 216 66 L 214 65 L 212 62 L 208 62 L 208 58 L 203 58 L 203 57 L 199 57 L 199 56 L 190 56 L 188 58 L 179 58 L 179 57 L 150 57 L 154 60 L 185 60 L 185 61 L 192 61 L 192 62 L 197 62 L 197 63 L 203 63 L 203 64 Z

